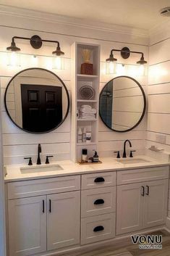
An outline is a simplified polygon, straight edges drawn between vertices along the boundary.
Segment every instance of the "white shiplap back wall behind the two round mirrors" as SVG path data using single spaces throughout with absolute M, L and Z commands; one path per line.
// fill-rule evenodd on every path
M 24 14 L 24 12 L 22 12 Z M 58 23 L 57 26 L 53 22 L 46 20 L 38 20 L 38 13 L 35 18 L 20 17 L 17 18 L 14 15 L 0 14 L 0 51 L 6 51 L 7 46 L 11 43 L 12 36 L 25 36 L 31 37 L 34 34 L 38 34 L 41 38 L 48 38 L 49 40 L 58 40 L 61 44 L 61 50 L 65 52 L 66 69 L 65 70 L 52 70 L 54 73 L 64 80 L 69 94 L 70 91 L 70 51 L 71 45 L 75 41 L 100 44 L 101 45 L 101 84 L 100 88 L 114 78 L 113 75 L 105 74 L 105 59 L 109 56 L 109 52 L 112 48 L 122 49 L 124 46 L 128 46 L 132 51 L 143 51 L 145 58 L 148 59 L 148 46 L 145 36 L 135 36 L 130 33 L 119 33 L 114 30 L 99 30 L 92 28 L 75 28 L 75 25 L 63 25 Z M 43 25 L 42 25 L 43 24 Z M 95 39 L 94 39 L 95 38 Z M 44 44 L 43 48 L 35 50 L 31 48 L 27 41 L 18 41 L 17 46 L 20 46 L 22 53 L 29 54 L 43 54 L 51 55 L 51 51 L 54 51 L 54 46 L 51 44 Z M 115 57 L 122 62 L 119 54 L 115 54 Z M 4 163 L 23 163 L 23 157 L 33 157 L 35 162 L 37 157 L 38 143 L 42 144 L 42 160 L 45 160 L 46 154 L 53 154 L 54 160 L 67 160 L 70 159 L 70 112 L 67 120 L 56 131 L 46 133 L 42 135 L 33 135 L 25 133 L 17 128 L 4 110 L 4 91 L 7 87 L 7 83 L 20 70 L 27 67 L 33 67 L 30 62 L 29 56 L 22 56 L 21 67 L 7 67 L 4 65 L 4 61 L 0 61 L 0 75 L 1 75 L 1 120 L 2 120 L 2 135 L 3 135 L 3 148 L 4 148 Z M 132 55 L 126 60 L 129 64 L 134 64 L 139 59 L 139 56 Z M 38 67 L 49 69 L 48 57 L 38 58 Z M 141 83 L 144 90 L 146 90 L 147 77 L 134 77 Z M 74 100 L 74 99 L 72 99 Z M 130 139 L 132 146 L 135 149 L 143 149 L 145 141 L 145 118 L 140 125 L 133 131 L 128 133 L 116 133 L 110 131 L 99 120 L 99 156 L 113 156 L 114 150 L 122 149 L 124 139 Z

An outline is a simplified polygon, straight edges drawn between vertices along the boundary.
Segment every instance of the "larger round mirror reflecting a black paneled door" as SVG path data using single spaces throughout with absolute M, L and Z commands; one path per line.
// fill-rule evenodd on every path
M 53 131 L 69 112 L 66 86 L 43 68 L 29 68 L 14 75 L 7 85 L 4 103 L 12 122 L 29 133 Z

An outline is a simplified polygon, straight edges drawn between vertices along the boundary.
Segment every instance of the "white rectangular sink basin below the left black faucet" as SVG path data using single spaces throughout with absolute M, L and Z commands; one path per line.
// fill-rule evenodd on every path
M 20 168 L 21 173 L 44 173 L 56 170 L 63 170 L 60 165 L 30 166 Z

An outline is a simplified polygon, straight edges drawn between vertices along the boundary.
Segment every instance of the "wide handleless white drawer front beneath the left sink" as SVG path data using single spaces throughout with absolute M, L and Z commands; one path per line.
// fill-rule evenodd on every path
M 44 178 L 8 183 L 8 199 L 55 194 L 80 189 L 80 176 Z

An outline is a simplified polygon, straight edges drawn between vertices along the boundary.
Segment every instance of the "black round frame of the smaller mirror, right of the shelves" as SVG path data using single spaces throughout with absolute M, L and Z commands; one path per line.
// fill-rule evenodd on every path
M 105 85 L 105 86 L 102 88 L 102 90 L 101 90 L 101 93 L 100 93 L 100 96 L 99 96 L 99 116 L 101 117 L 102 122 L 103 122 L 111 131 L 116 131 L 116 132 L 118 132 L 118 133 L 125 133 L 125 132 L 131 131 L 132 129 L 134 129 L 135 127 L 137 127 L 137 125 L 139 125 L 140 122 L 143 120 L 143 117 L 144 117 L 144 115 L 145 115 L 145 110 L 146 110 L 146 96 L 145 96 L 145 91 L 143 90 L 143 87 L 142 87 L 142 86 L 140 85 L 140 83 L 137 82 L 137 80 L 135 80 L 134 78 L 131 78 L 130 76 L 127 76 L 127 75 L 120 75 L 120 76 L 117 76 L 116 78 L 129 78 L 129 79 L 133 80 L 135 83 L 137 83 L 137 86 L 140 87 L 140 90 L 142 91 L 142 94 L 143 94 L 144 107 L 143 107 L 143 113 L 142 113 L 142 115 L 141 115 L 141 117 L 140 117 L 140 120 L 139 120 L 134 126 L 132 126 L 132 128 L 129 128 L 129 129 L 124 130 L 124 131 L 117 131 L 117 130 L 114 130 L 114 129 L 110 128 L 109 125 L 107 125 L 107 124 L 104 122 L 104 120 L 103 120 L 103 118 L 102 118 L 102 116 L 101 116 L 101 111 L 100 111 L 100 99 L 101 99 L 101 94 L 102 94 L 102 92 L 103 92 L 103 90 L 104 90 L 104 88 L 105 88 L 106 85 Z M 113 78 L 113 79 L 111 79 L 111 80 L 114 80 L 114 79 L 116 79 L 116 78 Z M 109 80 L 109 82 L 111 82 L 111 80 Z M 108 84 L 109 82 L 107 82 L 106 84 Z

